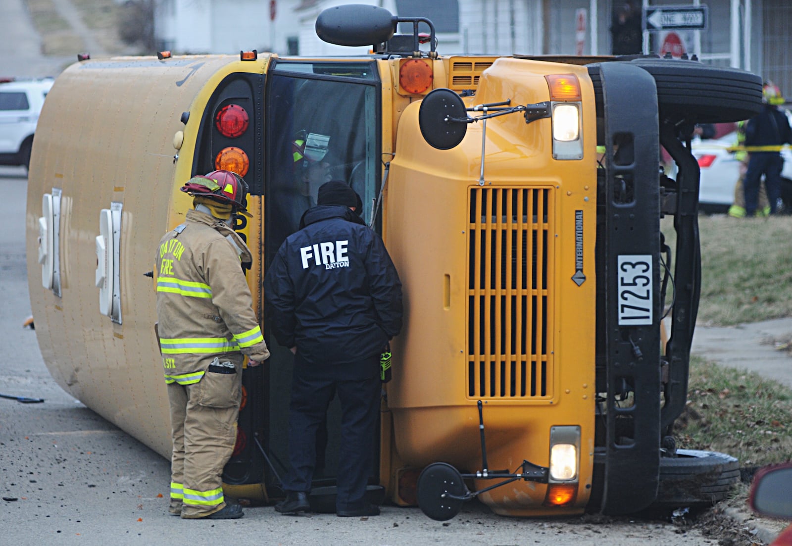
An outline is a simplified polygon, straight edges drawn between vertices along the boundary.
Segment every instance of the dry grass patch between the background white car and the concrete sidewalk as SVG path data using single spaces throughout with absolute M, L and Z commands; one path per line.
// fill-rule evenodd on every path
M 670 219 L 661 229 L 674 250 Z M 730 326 L 792 315 L 792 216 L 699 216 L 699 323 Z M 668 289 L 668 303 L 672 290 Z

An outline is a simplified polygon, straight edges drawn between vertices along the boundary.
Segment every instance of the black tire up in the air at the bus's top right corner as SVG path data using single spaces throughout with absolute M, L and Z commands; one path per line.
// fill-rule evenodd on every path
M 762 109 L 762 78 L 750 72 L 659 57 L 618 62 L 634 63 L 652 74 L 661 120 L 729 123 L 748 120 Z M 601 106 L 600 74 L 591 70 L 589 75 L 595 99 Z

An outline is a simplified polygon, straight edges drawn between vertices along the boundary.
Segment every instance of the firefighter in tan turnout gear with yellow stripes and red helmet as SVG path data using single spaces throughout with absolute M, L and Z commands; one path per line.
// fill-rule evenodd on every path
M 156 252 L 158 337 L 173 435 L 169 512 L 186 519 L 242 517 L 220 475 L 236 441 L 242 365 L 269 351 L 240 262 L 251 262 L 231 226 L 247 185 L 227 170 L 191 178 L 195 207 Z

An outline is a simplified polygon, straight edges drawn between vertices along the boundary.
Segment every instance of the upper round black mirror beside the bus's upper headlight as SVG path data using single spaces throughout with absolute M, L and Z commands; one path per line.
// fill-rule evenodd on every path
M 450 89 L 433 90 L 418 110 L 421 135 L 438 150 L 451 150 L 462 142 L 470 121 L 462 97 Z

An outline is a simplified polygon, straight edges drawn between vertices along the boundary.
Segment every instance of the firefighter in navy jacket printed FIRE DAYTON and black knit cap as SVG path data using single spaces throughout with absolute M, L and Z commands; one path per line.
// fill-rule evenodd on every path
M 265 293 L 272 333 L 295 353 L 282 514 L 310 510 L 316 433 L 333 393 L 341 402 L 336 514 L 375 516 L 365 498 L 379 414 L 379 355 L 402 327 L 402 283 L 382 239 L 360 218 L 345 181 L 320 186 L 300 231 L 272 260 Z

